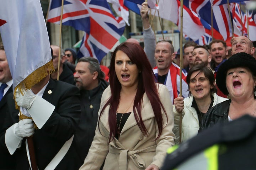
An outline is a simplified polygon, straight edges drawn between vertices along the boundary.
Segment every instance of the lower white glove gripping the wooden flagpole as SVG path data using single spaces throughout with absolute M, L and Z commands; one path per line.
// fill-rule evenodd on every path
M 34 134 L 34 123 L 32 119 L 22 119 L 14 125 L 14 133 L 17 137 L 30 137 Z

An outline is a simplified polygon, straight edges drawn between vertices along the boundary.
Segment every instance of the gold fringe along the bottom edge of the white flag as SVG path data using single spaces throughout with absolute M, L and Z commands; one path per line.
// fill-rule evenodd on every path
M 22 80 L 21 83 L 15 87 L 14 94 L 16 93 L 16 90 L 19 89 L 21 94 L 23 95 L 23 90 L 27 91 L 28 89 L 31 89 L 31 87 L 39 83 L 48 74 L 52 74 L 54 71 L 55 69 L 53 67 L 53 62 L 51 60 L 48 63 L 44 64 L 42 67 L 39 67 L 38 69 L 34 70 L 30 75 L 28 75 L 28 77 Z M 15 95 L 14 95 L 14 99 L 15 99 Z M 15 101 L 15 107 L 16 109 L 19 109 L 16 101 Z

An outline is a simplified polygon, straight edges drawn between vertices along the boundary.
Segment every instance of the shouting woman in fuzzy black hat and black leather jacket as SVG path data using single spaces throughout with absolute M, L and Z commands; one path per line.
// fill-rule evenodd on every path
M 217 104 L 203 118 L 200 130 L 249 114 L 256 117 L 256 60 L 240 52 L 225 61 L 217 72 L 216 83 L 230 100 Z

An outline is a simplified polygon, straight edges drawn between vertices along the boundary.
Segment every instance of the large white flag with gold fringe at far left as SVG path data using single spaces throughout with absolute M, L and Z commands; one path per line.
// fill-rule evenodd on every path
M 40 1 L 1 1 L 0 19 L 13 88 L 30 89 L 54 70 Z

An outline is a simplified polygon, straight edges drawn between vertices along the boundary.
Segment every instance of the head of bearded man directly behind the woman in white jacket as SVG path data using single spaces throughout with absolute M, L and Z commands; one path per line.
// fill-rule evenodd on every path
M 193 65 L 203 63 L 205 66 L 210 67 L 210 62 L 212 61 L 212 57 L 209 54 L 208 50 L 204 46 L 196 46 L 192 52 L 192 61 Z

